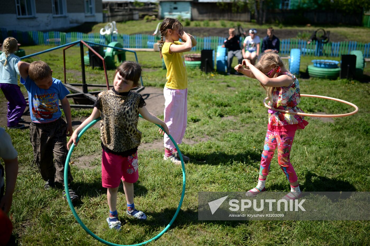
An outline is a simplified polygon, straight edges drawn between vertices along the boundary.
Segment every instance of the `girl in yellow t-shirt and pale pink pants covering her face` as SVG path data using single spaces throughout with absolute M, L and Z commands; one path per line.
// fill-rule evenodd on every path
M 173 18 L 165 18 L 161 25 L 161 41 L 159 54 L 163 57 L 167 68 L 167 82 L 163 89 L 165 97 L 164 122 L 168 126 L 169 134 L 181 144 L 185 134 L 187 122 L 188 76 L 182 52 L 190 51 L 196 45 L 195 38 L 182 30 L 182 24 Z M 179 42 L 181 38 L 182 41 Z M 180 156 L 168 135 L 164 135 L 164 160 L 181 165 Z M 184 161 L 189 157 L 182 156 Z

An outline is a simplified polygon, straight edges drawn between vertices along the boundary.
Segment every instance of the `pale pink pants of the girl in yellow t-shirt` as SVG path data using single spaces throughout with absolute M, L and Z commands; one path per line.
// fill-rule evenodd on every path
M 188 121 L 188 89 L 178 90 L 165 87 L 163 94 L 165 98 L 164 122 L 176 144 L 181 144 Z M 164 134 L 164 147 L 170 150 L 175 148 L 167 134 Z

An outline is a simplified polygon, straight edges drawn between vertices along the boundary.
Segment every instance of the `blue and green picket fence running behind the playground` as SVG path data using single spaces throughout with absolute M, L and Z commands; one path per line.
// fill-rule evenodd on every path
M 120 42 L 124 48 L 153 48 L 155 42 L 158 41 L 157 37 L 146 34 L 112 34 L 100 35 L 97 33 L 62 33 L 58 31 L 40 32 L 40 31 L 7 31 L 6 28 L 0 28 L 0 42 L 7 37 L 14 37 L 19 43 L 23 45 L 50 45 L 58 46 L 74 42 L 77 40 L 85 40 L 95 42 L 98 44 L 109 44 L 110 42 Z M 198 45 L 193 47 L 192 51 L 201 51 L 202 49 L 216 50 L 219 45 L 223 44 L 225 37 L 195 37 Z M 316 41 L 307 44 L 305 40 L 296 38 L 280 40 L 280 55 L 289 55 L 290 49 L 301 49 L 302 55 L 317 55 Z M 340 55 L 349 54 L 352 50 L 360 50 L 363 52 L 365 58 L 370 58 L 370 42 L 361 43 L 356 41 L 342 41 L 342 42 L 329 42 L 322 45 L 322 55 L 329 57 L 339 57 Z

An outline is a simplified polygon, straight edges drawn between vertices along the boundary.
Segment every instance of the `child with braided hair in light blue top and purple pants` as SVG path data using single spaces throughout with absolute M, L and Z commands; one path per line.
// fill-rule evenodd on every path
M 19 124 L 19 121 L 26 108 L 26 100 L 18 86 L 18 62 L 21 59 L 13 54 L 17 48 L 18 42 L 15 38 L 6 38 L 3 42 L 3 53 L 0 55 L 0 88 L 9 101 L 7 114 L 9 129 L 24 127 L 24 124 Z

